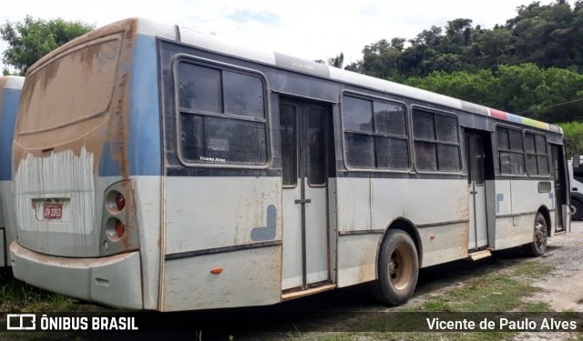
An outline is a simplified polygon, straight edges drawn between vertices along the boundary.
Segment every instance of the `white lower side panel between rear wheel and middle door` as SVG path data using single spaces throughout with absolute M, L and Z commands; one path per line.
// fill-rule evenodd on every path
M 467 256 L 466 179 L 373 179 L 373 229 L 404 217 L 418 228 L 421 267 Z

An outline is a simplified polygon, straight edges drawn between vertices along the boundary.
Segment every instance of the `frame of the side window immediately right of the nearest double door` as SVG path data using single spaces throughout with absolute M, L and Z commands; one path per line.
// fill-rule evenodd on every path
M 401 136 L 401 138 L 403 138 L 405 141 L 407 141 L 407 168 L 405 169 L 392 169 L 392 168 L 364 168 L 364 167 L 355 167 L 353 165 L 348 165 L 348 158 L 346 155 L 346 139 L 345 139 L 345 134 L 346 133 L 350 133 L 350 131 L 347 131 L 344 128 L 344 118 L 343 118 L 343 97 L 344 95 L 350 95 L 356 98 L 361 98 L 364 100 L 370 100 L 370 101 L 377 101 L 377 102 L 383 102 L 385 104 L 392 104 L 392 105 L 402 105 L 404 107 L 404 131 L 405 131 L 405 138 L 403 138 L 403 136 Z M 406 103 L 404 101 L 400 101 L 394 98 L 385 98 L 382 96 L 378 96 L 378 95 L 369 95 L 369 94 L 365 94 L 362 92 L 358 92 L 358 91 L 353 91 L 353 90 L 342 90 L 340 92 L 340 99 L 339 99 L 339 115 L 340 115 L 340 134 L 341 139 L 342 139 L 342 148 L 343 148 L 343 165 L 346 168 L 346 170 L 350 171 L 350 172 L 373 172 L 373 173 L 403 173 L 403 174 L 408 174 L 411 173 L 411 171 L 413 170 L 413 163 L 414 160 L 412 158 L 413 154 L 413 150 L 412 150 L 412 143 L 411 143 L 411 134 L 412 134 L 412 130 L 411 130 L 411 122 L 410 122 L 410 110 L 409 110 L 409 106 L 406 105 Z M 374 108 L 373 108 L 373 113 L 372 115 L 374 115 Z M 376 136 L 376 135 L 373 135 Z M 387 135 L 386 137 L 393 137 L 393 138 L 399 138 L 396 135 Z

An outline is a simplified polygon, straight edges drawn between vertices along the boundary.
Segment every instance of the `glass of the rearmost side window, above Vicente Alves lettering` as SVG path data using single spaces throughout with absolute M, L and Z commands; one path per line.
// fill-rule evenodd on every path
M 267 119 L 258 75 L 180 61 L 179 155 L 187 164 L 265 165 Z

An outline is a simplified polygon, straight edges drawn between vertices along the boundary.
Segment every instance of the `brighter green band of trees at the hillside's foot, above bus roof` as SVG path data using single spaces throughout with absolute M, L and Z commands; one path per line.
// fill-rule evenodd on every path
M 496 72 L 438 71 L 405 84 L 550 123 L 580 120 L 583 113 L 583 75 L 533 63 L 500 65 Z

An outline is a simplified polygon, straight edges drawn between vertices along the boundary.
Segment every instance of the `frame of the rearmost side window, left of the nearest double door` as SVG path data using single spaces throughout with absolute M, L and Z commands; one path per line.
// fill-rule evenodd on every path
M 191 163 L 188 162 L 183 156 L 182 156 L 182 150 L 180 147 L 180 135 L 181 135 L 181 129 L 180 129 L 180 104 L 179 104 L 179 95 L 178 95 L 178 87 L 179 87 L 179 82 L 177 82 L 177 80 L 179 79 L 179 64 L 181 62 L 187 63 L 187 64 L 192 64 L 192 65 L 199 65 L 199 66 L 203 66 L 203 67 L 211 67 L 211 68 L 219 68 L 220 70 L 227 70 L 230 72 L 235 72 L 235 73 L 240 73 L 243 75 L 251 75 L 251 76 L 255 76 L 258 77 L 261 80 L 261 83 L 263 85 L 263 108 L 264 108 L 264 113 L 265 113 L 265 138 L 266 138 L 266 142 L 265 142 L 265 149 L 266 149 L 266 159 L 265 159 L 265 163 L 263 165 L 243 165 L 243 164 L 230 164 L 228 161 L 225 163 Z M 235 168 L 235 169 L 269 169 L 271 168 L 271 165 L 273 164 L 273 141 L 271 138 L 271 96 L 270 96 L 270 85 L 269 82 L 267 80 L 267 77 L 261 73 L 261 71 L 259 70 L 254 70 L 248 67 L 243 67 L 243 66 L 239 66 L 239 65 L 232 65 L 229 63 L 222 63 L 222 62 L 218 62 L 215 60 L 211 60 L 211 59 L 207 59 L 207 58 L 203 58 L 203 57 L 199 57 L 197 55 L 189 55 L 189 54 L 177 54 L 174 55 L 171 59 L 171 63 L 172 63 L 172 82 L 173 82 L 173 86 L 172 88 L 172 95 L 173 95 L 173 105 L 174 105 L 174 119 L 175 119 L 175 124 L 174 124 L 174 129 L 175 129 L 175 139 L 174 142 L 176 144 L 176 155 L 177 158 L 179 160 L 179 163 L 181 165 L 184 165 L 186 167 L 203 167 L 203 168 Z M 223 117 L 223 118 L 230 118 L 230 119 L 239 119 L 240 117 L 246 117 L 243 115 L 229 115 L 229 114 L 220 114 L 220 113 L 207 113 L 207 112 L 203 112 L 200 111 L 201 115 L 208 115 L 208 116 L 214 116 L 214 117 Z M 210 114 L 210 115 L 209 115 Z M 213 115 L 214 114 L 214 115 Z M 233 117 L 234 116 L 234 117 Z M 243 118 L 242 121 L 249 121 L 249 122 L 260 122 L 260 121 L 256 121 L 256 120 L 252 120 L 252 119 L 245 119 Z

